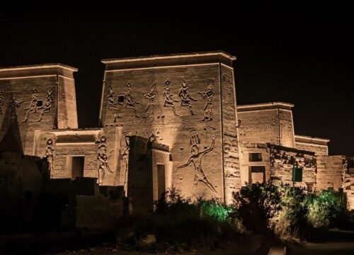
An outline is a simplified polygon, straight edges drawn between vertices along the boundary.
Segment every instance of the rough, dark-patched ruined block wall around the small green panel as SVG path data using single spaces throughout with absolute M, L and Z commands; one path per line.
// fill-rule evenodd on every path
M 302 182 L 295 186 L 309 188 L 312 191 L 316 183 L 316 156 L 312 152 L 297 149 L 270 147 L 270 180 L 292 185 L 292 167 L 302 168 Z

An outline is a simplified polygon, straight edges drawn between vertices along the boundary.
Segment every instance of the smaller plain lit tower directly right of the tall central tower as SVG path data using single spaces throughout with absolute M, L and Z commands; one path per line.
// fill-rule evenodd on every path
M 293 106 L 282 102 L 237 106 L 242 186 L 270 179 L 265 144 L 295 148 Z M 259 159 L 252 159 L 252 154 L 259 154 Z

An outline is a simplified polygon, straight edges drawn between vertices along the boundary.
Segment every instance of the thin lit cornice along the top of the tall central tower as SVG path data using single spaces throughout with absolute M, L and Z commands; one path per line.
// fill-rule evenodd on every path
M 208 56 L 217 56 L 221 55 L 222 57 L 226 57 L 229 60 L 236 60 L 235 56 L 224 52 L 222 50 L 210 51 L 210 52 L 190 52 L 190 53 L 179 53 L 179 54 L 169 54 L 169 55 L 151 55 L 144 57 L 122 57 L 115 59 L 105 59 L 101 60 L 103 64 L 112 64 L 112 63 L 124 63 L 124 62 L 136 62 L 136 61 L 146 61 L 146 60 L 168 60 L 168 59 L 176 59 L 181 57 L 208 57 Z

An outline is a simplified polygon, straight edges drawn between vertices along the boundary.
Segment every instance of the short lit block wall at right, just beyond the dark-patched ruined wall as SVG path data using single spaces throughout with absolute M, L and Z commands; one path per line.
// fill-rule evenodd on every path
M 344 188 L 346 171 L 346 157 L 317 156 L 316 190 L 333 188 L 338 191 L 339 188 Z

